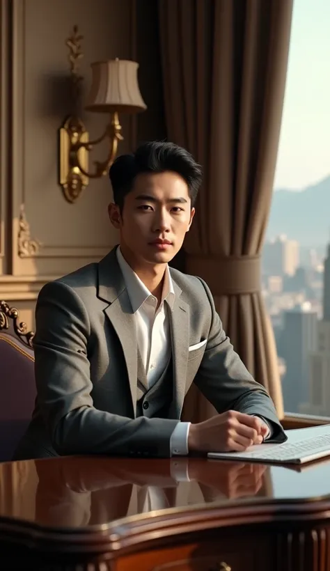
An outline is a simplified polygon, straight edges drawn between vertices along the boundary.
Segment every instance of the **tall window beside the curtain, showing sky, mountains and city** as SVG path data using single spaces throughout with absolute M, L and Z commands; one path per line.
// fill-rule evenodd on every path
M 262 253 L 262 287 L 287 414 L 330 416 L 329 62 L 330 1 L 295 0 Z

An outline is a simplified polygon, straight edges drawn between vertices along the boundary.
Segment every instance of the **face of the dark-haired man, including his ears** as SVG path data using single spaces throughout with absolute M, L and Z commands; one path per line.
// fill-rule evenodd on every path
M 120 231 L 120 248 L 137 263 L 168 263 L 182 246 L 195 209 L 187 182 L 173 172 L 143 173 L 125 196 L 123 212 L 109 205 L 109 217 Z

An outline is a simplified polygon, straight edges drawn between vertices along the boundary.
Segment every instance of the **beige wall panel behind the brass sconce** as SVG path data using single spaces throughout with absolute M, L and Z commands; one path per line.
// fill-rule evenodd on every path
M 109 226 L 109 180 L 91 180 L 75 204 L 65 202 L 58 185 L 58 127 L 70 114 L 68 48 L 77 24 L 84 36 L 81 74 L 84 97 L 93 61 L 133 58 L 133 0 L 13 0 L 13 252 L 16 276 L 58 276 L 99 260 L 117 241 Z M 83 113 L 92 138 L 107 115 Z M 125 140 L 119 152 L 135 145 L 134 120 L 121 116 Z M 107 146 L 92 155 L 103 159 Z M 90 166 L 93 166 L 92 161 Z M 34 256 L 19 256 L 19 212 L 24 203 Z M 0 250 L 1 251 L 1 250 Z M 47 279 L 45 280 L 47 281 Z

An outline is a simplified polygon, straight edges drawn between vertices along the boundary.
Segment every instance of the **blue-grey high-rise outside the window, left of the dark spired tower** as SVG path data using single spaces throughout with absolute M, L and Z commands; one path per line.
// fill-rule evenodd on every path
M 317 313 L 308 302 L 284 312 L 281 356 L 285 360 L 283 400 L 286 412 L 299 412 L 309 396 L 309 358 L 317 347 Z

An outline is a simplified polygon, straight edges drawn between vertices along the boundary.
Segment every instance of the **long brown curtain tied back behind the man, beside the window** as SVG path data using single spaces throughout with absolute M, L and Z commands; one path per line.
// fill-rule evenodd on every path
M 209 284 L 223 327 L 283 416 L 262 300 L 265 236 L 281 127 L 292 0 L 159 0 L 168 140 L 203 165 L 185 271 Z M 184 418 L 214 414 L 197 389 Z

